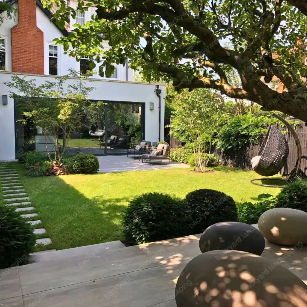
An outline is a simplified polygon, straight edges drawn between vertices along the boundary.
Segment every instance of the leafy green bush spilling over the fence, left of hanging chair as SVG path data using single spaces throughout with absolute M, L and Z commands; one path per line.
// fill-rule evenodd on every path
M 264 116 L 255 117 L 253 114 L 234 116 L 222 127 L 217 134 L 216 147 L 220 150 L 241 148 L 250 144 L 256 145 L 259 138 L 266 133 L 268 119 Z

